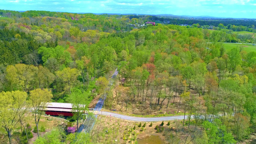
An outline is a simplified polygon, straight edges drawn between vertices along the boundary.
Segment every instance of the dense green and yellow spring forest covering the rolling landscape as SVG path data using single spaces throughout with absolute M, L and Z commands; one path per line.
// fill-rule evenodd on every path
M 192 25 L 179 26 L 170 20 L 170 24 L 153 26 L 143 25 L 151 16 L 4 10 L 0 16 L 3 143 L 8 137 L 11 143 L 18 122 L 21 127 L 24 124 L 22 107 L 40 108 L 38 101 L 89 104 L 104 93 L 108 93 L 105 109 L 122 104 L 123 113 L 136 106 L 151 115 L 184 115 L 180 132 L 191 132 L 187 138 L 194 144 L 242 143 L 256 131 L 256 50 L 246 51 L 243 45 L 227 50 L 223 44 L 256 43 L 253 34 L 240 35 L 232 29 L 236 24 L 246 27 L 241 31 L 255 32 L 253 22 L 227 21 L 222 22 L 224 26 L 217 25 L 219 21 L 177 20 L 175 24 Z M 106 90 L 116 68 L 115 85 Z M 11 111 L 18 106 L 20 111 Z M 37 114 L 33 115 L 38 133 Z M 7 116 L 10 119 L 3 119 Z M 79 116 L 75 120 L 78 123 Z M 197 127 L 201 128 L 199 134 Z M 168 135 L 170 143 L 187 144 L 177 131 L 176 137 Z M 73 134 L 66 136 L 61 130 L 34 144 L 49 143 L 53 136 L 58 137 L 56 144 L 81 144 Z M 88 134 L 79 135 L 83 136 L 88 144 L 98 143 Z M 28 142 L 27 133 L 21 137 L 15 140 Z

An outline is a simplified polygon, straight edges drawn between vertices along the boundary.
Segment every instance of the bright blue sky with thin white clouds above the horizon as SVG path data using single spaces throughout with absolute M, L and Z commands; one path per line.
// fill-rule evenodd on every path
M 0 9 L 256 18 L 256 0 L 0 0 Z

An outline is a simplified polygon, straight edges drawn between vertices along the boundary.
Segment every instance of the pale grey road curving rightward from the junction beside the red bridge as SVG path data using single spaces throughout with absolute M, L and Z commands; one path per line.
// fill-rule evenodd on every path
M 98 115 L 105 115 L 105 116 L 111 116 L 119 119 L 124 120 L 133 120 L 133 121 L 163 121 L 163 120 L 183 120 L 184 116 L 170 116 L 170 117 L 155 117 L 155 118 L 140 118 L 140 117 L 132 117 L 132 116 L 125 116 L 121 114 L 116 114 L 112 112 L 106 112 L 106 111 L 100 111 L 98 112 Z M 185 119 L 188 117 L 185 116 Z

